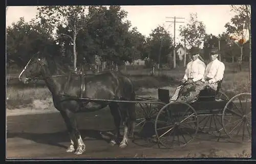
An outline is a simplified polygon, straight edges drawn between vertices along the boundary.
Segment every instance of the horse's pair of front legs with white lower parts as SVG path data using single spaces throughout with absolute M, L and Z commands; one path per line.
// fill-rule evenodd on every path
M 67 151 L 72 151 L 72 146 L 77 148 L 75 154 L 79 155 L 86 151 L 86 145 L 83 143 L 82 137 L 78 130 L 75 113 L 70 110 L 65 110 L 62 112 L 63 118 L 67 119 L 67 127 L 71 127 L 71 146 Z

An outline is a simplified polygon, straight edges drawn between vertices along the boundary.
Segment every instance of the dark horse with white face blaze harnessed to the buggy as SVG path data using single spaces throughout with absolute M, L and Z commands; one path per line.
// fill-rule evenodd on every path
M 25 84 L 32 79 L 45 81 L 52 93 L 54 107 L 60 112 L 69 132 L 70 146 L 66 152 L 79 155 L 86 151 L 86 144 L 78 130 L 75 113 L 97 111 L 106 106 L 110 108 L 116 128 L 111 144 L 117 144 L 121 122 L 124 134 L 119 147 L 125 148 L 129 136 L 134 137 L 135 103 L 118 102 L 118 100 L 135 101 L 134 86 L 132 81 L 121 73 L 104 72 L 97 75 L 78 76 L 61 63 L 60 59 L 36 54 L 28 61 L 18 78 Z M 82 101 L 79 98 L 108 101 Z

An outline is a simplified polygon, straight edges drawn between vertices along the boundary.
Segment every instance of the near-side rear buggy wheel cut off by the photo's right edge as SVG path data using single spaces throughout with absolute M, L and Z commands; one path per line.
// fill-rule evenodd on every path
M 222 114 L 222 126 L 234 141 L 251 140 L 251 93 L 240 93 L 227 102 Z

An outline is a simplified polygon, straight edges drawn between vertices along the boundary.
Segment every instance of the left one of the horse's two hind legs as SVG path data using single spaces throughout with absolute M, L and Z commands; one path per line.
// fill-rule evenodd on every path
M 111 114 L 114 118 L 114 123 L 116 127 L 116 136 L 112 138 L 110 143 L 112 146 L 116 145 L 118 142 L 118 138 L 120 137 L 120 123 L 121 123 L 121 113 L 117 103 L 110 103 L 109 105 Z

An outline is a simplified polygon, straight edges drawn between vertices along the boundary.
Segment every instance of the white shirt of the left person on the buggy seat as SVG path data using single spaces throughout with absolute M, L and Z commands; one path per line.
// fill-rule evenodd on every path
M 183 79 L 187 80 L 188 78 L 193 79 L 193 81 L 201 80 L 204 77 L 205 64 L 200 59 L 190 61 L 187 63 L 185 75 Z

